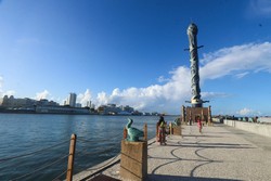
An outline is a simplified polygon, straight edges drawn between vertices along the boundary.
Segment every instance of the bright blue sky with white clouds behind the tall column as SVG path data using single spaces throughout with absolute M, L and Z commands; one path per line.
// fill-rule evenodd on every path
M 191 23 L 204 106 L 270 116 L 270 0 L 0 0 L 0 96 L 181 114 Z

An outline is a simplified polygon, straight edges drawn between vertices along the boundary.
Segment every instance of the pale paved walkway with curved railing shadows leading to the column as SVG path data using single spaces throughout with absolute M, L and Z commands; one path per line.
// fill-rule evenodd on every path
M 271 139 L 224 125 L 184 126 L 183 137 L 169 135 L 167 145 L 150 140 L 147 180 L 271 180 Z M 103 174 L 119 179 L 119 164 Z

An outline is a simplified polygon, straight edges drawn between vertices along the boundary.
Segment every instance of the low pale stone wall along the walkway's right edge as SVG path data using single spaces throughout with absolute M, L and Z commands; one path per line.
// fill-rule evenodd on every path
M 271 125 L 245 122 L 245 121 L 229 120 L 229 119 L 224 119 L 223 122 L 224 125 L 242 129 L 244 131 L 271 138 Z

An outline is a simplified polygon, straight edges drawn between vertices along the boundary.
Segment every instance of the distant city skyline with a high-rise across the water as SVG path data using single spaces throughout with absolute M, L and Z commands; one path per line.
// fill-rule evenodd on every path
M 72 101 L 70 101 L 72 100 Z M 40 113 L 40 114 L 100 114 L 100 115 L 159 115 L 164 113 L 157 112 L 139 112 L 129 105 L 117 105 L 109 103 L 106 105 L 100 105 L 95 107 L 94 104 L 82 106 L 76 102 L 76 93 L 69 93 L 67 102 L 63 105 L 59 103 L 41 99 L 33 100 L 29 98 L 14 98 L 13 95 L 4 95 L 0 99 L 1 113 Z

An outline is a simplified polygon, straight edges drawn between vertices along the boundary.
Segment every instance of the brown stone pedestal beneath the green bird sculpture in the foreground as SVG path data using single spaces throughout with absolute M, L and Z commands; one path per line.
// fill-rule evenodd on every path
M 121 141 L 120 178 L 145 181 L 147 177 L 147 142 Z

